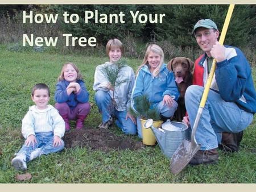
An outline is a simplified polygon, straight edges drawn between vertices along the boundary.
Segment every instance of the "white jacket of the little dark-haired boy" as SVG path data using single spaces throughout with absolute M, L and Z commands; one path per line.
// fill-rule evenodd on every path
M 65 123 L 59 112 L 52 105 L 44 110 L 31 106 L 22 120 L 22 135 L 27 139 L 38 132 L 53 132 L 54 136 L 63 137 Z

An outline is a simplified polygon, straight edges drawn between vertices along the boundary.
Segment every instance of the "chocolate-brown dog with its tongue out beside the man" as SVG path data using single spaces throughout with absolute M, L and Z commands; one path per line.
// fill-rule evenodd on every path
M 167 68 L 174 72 L 175 82 L 180 91 L 178 100 L 178 107 L 174 115 L 174 119 L 181 122 L 185 116 L 185 91 L 188 86 L 192 85 L 192 78 L 194 72 L 194 63 L 185 57 L 176 57 L 168 62 Z

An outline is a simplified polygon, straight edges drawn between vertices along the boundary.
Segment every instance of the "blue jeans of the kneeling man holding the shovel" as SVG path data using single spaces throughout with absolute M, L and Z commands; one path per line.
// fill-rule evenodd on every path
M 185 93 L 185 106 L 192 128 L 203 91 L 204 87 L 191 85 Z M 252 120 L 253 114 L 242 110 L 234 102 L 225 102 L 220 94 L 210 90 L 196 131 L 196 141 L 201 144 L 200 150 L 217 148 L 221 142 L 221 132 L 240 132 Z

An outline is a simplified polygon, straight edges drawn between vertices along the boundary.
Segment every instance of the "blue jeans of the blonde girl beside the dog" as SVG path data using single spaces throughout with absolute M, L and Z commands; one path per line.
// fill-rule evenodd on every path
M 154 105 L 152 105 L 152 108 L 157 108 L 157 110 L 160 112 L 160 115 L 163 115 L 166 118 L 171 118 L 172 116 L 174 116 L 174 112 L 177 110 L 177 102 L 174 101 L 174 105 L 170 108 L 166 104 L 163 105 L 163 101 L 160 101 L 159 103 L 155 103 Z M 142 138 L 140 119 L 140 117 L 137 117 L 137 131 L 139 138 Z

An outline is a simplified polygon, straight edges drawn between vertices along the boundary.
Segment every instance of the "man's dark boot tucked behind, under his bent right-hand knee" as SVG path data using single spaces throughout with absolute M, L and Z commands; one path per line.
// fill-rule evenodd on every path
M 221 144 L 218 147 L 225 152 L 237 152 L 242 137 L 243 131 L 238 133 L 222 132 Z

